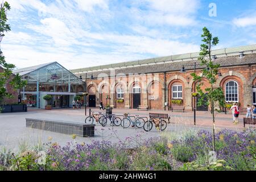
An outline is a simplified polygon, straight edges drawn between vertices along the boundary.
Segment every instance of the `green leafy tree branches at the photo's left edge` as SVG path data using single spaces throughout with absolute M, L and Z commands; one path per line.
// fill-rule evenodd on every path
M 5 60 L 5 56 L 3 56 L 3 52 L 1 49 L 1 43 L 3 37 L 6 32 L 11 31 L 11 27 L 7 24 L 7 11 L 11 9 L 9 3 L 2 2 L 0 5 L 0 68 L 2 68 L 0 72 L 0 103 L 3 101 L 3 98 L 11 98 L 10 93 L 6 88 L 6 84 L 9 83 L 14 90 L 22 88 L 27 84 L 26 81 L 22 81 L 21 77 L 17 75 L 13 75 L 13 69 L 15 68 L 14 64 L 9 64 Z

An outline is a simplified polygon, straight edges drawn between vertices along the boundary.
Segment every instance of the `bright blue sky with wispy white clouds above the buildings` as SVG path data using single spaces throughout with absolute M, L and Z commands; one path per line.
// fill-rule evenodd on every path
M 67 69 L 256 44 L 255 0 L 7 0 L 2 41 L 16 68 L 57 61 Z

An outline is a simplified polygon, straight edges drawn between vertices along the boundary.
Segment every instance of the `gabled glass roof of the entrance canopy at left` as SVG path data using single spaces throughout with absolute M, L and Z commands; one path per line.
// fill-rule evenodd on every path
M 44 84 L 85 84 L 84 81 L 57 62 L 16 69 L 13 72 L 19 73 L 22 79 L 27 80 L 28 84 L 34 84 L 36 82 Z

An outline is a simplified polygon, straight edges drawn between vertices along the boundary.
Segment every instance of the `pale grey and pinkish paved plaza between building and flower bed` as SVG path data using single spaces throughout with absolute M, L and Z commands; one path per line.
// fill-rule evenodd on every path
M 92 109 L 92 111 L 100 111 L 98 109 Z M 90 143 L 92 140 L 110 140 L 112 142 L 118 142 L 119 140 L 124 141 L 127 137 L 139 137 L 139 138 L 150 138 L 159 135 L 173 135 L 179 134 L 186 130 L 200 130 L 212 129 L 212 120 L 210 113 L 198 111 L 196 122 L 197 125 L 193 125 L 193 113 L 171 113 L 171 111 L 137 111 L 137 110 L 119 110 L 114 109 L 113 113 L 117 115 L 122 115 L 123 113 L 138 114 L 142 117 L 148 116 L 148 113 L 168 113 L 171 117 L 171 123 L 168 124 L 167 129 L 160 133 L 153 127 L 153 130 L 149 133 L 144 132 L 143 129 L 135 130 L 132 127 L 128 129 L 123 129 L 121 126 L 110 125 L 102 127 L 96 124 L 95 137 L 92 138 L 82 138 L 77 137 L 76 141 L 79 143 L 85 142 Z M 89 114 L 89 110 L 87 112 Z M 60 145 L 64 145 L 67 142 L 72 142 L 71 135 L 52 133 L 49 131 L 37 130 L 26 128 L 26 118 L 38 118 L 38 119 L 53 119 L 60 121 L 73 121 L 84 123 L 85 111 L 84 109 L 73 110 L 73 109 L 56 109 L 56 110 L 39 110 L 31 109 L 27 113 L 8 113 L 0 114 L 0 146 L 8 146 L 18 149 L 19 144 L 28 144 L 30 146 L 35 146 L 39 143 L 49 142 L 49 137 L 52 138 L 52 142 L 58 142 Z M 232 123 L 231 114 L 217 114 L 216 115 L 216 128 L 217 130 L 228 128 L 232 130 L 241 130 L 243 115 L 240 117 L 240 123 L 234 125 Z

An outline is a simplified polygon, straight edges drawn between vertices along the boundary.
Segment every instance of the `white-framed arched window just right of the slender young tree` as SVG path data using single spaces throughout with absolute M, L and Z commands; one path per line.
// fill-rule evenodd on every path
M 226 101 L 238 102 L 238 84 L 236 81 L 226 83 Z

